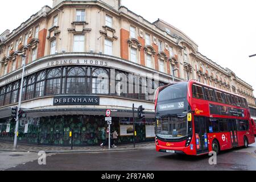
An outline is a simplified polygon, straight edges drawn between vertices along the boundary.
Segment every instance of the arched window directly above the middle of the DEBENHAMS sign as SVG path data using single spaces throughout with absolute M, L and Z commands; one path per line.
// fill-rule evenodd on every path
M 67 76 L 68 94 L 86 94 L 86 73 L 83 68 L 71 68 Z

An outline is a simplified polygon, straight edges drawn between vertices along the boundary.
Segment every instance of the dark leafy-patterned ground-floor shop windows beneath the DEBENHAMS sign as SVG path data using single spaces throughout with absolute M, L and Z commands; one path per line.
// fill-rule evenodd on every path
M 118 144 L 133 143 L 133 118 L 112 118 L 112 132 L 118 131 Z M 18 142 L 43 146 L 70 146 L 69 131 L 73 131 L 74 146 L 97 146 L 106 139 L 105 117 L 65 115 L 26 118 L 19 123 Z M 0 140 L 13 141 L 15 123 L 0 123 Z M 135 121 L 136 142 L 154 141 L 154 119 Z M 148 137 L 151 136 L 151 137 Z

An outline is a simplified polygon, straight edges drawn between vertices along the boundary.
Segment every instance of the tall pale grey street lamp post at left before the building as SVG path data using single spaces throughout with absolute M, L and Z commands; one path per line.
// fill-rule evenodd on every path
M 22 57 L 26 57 L 23 53 L 18 53 L 18 55 Z M 19 104 L 18 104 L 18 111 L 20 110 L 21 100 L 22 100 L 22 88 L 23 88 L 23 80 L 24 80 L 24 73 L 25 73 L 25 60 L 22 59 L 22 80 L 20 82 L 20 89 L 19 89 Z M 15 126 L 15 135 L 14 135 L 14 148 L 17 148 L 17 138 L 18 138 L 18 129 L 19 129 L 19 112 L 16 115 L 16 126 Z

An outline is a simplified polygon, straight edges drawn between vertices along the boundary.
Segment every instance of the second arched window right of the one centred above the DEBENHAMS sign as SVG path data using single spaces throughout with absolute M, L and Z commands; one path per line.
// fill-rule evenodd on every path
M 125 73 L 117 72 L 115 76 L 115 93 L 117 96 L 126 96 L 127 93 L 127 76 Z

